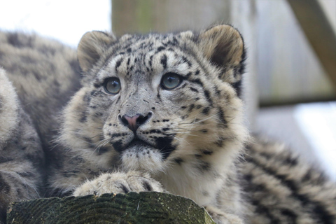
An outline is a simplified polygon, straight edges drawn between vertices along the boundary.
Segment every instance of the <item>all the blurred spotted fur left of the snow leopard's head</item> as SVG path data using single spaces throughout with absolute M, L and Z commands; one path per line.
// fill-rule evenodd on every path
M 0 223 L 10 202 L 45 195 L 45 165 L 58 156 L 51 151 L 57 113 L 79 79 L 73 49 L 34 34 L 0 32 Z

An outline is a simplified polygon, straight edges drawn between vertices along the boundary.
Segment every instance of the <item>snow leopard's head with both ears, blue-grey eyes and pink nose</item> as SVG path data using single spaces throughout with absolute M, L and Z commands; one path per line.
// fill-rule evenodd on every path
M 230 159 L 246 139 L 244 55 L 228 25 L 121 38 L 89 32 L 78 45 L 83 87 L 64 112 L 61 138 L 104 169 L 153 174 L 188 161 L 207 172 L 216 154 Z

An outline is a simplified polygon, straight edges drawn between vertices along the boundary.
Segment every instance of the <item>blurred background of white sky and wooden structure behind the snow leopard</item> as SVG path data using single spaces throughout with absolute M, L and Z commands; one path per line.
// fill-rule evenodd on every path
M 336 0 L 11 0 L 0 29 L 76 48 L 90 30 L 200 30 L 230 23 L 248 50 L 244 101 L 255 134 L 285 143 L 336 181 Z

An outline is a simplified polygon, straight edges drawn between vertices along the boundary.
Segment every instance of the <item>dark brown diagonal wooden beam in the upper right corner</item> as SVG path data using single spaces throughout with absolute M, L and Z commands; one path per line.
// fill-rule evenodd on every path
M 336 35 L 318 0 L 288 0 L 304 34 L 336 87 Z

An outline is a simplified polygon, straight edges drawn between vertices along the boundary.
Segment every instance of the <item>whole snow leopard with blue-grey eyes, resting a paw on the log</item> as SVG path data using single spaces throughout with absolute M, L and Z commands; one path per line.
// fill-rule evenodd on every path
M 218 224 L 336 222 L 335 183 L 248 133 L 246 46 L 234 27 L 90 31 L 77 56 L 36 36 L 3 35 L 0 65 L 45 153 L 33 172 L 42 196 L 158 191 L 194 200 Z M 25 50 L 34 54 L 7 56 Z

